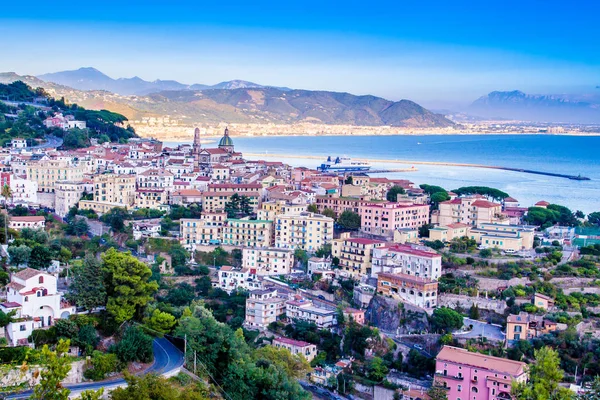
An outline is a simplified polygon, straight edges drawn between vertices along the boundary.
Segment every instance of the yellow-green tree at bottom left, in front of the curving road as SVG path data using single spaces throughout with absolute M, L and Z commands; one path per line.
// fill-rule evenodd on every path
M 71 360 L 64 357 L 69 350 L 70 341 L 60 340 L 56 351 L 51 351 L 48 345 L 42 348 L 42 371 L 40 382 L 33 388 L 34 400 L 67 400 L 71 391 L 62 386 L 61 382 L 71 370 Z

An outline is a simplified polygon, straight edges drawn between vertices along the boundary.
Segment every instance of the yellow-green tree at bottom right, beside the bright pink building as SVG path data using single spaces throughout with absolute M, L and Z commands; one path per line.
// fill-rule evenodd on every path
M 518 400 L 572 399 L 569 389 L 559 386 L 564 377 L 558 352 L 550 347 L 535 351 L 535 363 L 529 364 L 529 381 L 513 386 Z

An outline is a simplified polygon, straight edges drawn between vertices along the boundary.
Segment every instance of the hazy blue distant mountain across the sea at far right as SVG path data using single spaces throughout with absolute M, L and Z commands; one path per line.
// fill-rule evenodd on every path
M 600 123 L 600 96 L 496 91 L 475 100 L 467 112 L 485 118 L 595 124 Z

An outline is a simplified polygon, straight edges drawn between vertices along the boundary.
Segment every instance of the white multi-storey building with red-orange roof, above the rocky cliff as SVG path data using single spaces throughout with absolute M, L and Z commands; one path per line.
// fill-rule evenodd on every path
M 442 256 L 427 247 L 385 244 L 373 249 L 370 274 L 406 274 L 431 280 L 442 276 Z

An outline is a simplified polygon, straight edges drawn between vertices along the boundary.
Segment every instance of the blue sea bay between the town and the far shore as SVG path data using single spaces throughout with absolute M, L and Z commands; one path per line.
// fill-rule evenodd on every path
M 416 171 L 373 174 L 408 179 L 415 184 L 489 186 L 517 199 L 522 207 L 540 200 L 584 213 L 600 211 L 600 136 L 560 135 L 398 135 L 398 136 L 260 136 L 234 137 L 236 151 L 248 159 L 280 160 L 294 166 L 317 167 L 328 156 L 381 160 L 377 170 L 413 165 L 383 160 L 467 163 L 581 175 L 589 181 L 487 168 L 415 164 Z M 173 145 L 175 143 L 165 143 Z M 216 142 L 215 144 L 216 145 Z M 212 147 L 212 144 L 207 144 Z M 294 158 L 272 157 L 293 155 Z M 322 156 L 321 159 L 296 158 Z

